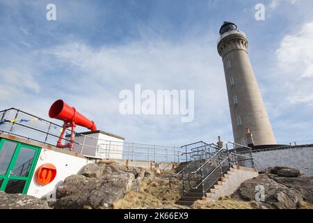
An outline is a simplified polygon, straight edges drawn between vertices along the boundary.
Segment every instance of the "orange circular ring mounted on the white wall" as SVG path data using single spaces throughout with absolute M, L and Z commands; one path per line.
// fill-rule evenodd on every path
M 47 185 L 56 178 L 56 167 L 54 164 L 46 163 L 38 167 L 35 179 L 40 185 Z

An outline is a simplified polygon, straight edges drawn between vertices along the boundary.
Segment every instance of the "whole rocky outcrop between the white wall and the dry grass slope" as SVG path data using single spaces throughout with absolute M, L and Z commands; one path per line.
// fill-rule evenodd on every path
M 87 164 L 81 175 L 72 175 L 56 190 L 55 208 L 112 208 L 129 191 L 138 192 L 152 173 L 120 164 Z

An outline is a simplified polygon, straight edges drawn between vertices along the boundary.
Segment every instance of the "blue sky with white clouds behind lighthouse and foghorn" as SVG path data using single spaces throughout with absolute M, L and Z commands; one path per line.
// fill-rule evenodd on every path
M 46 6 L 56 5 L 56 21 Z M 255 20 L 263 3 L 266 20 Z M 0 109 L 47 118 L 62 98 L 127 141 L 180 146 L 232 141 L 223 21 L 249 40 L 255 75 L 279 144 L 313 143 L 313 1 L 0 1 Z M 123 89 L 195 90 L 195 119 L 122 116 Z M 61 123 L 60 121 L 56 121 Z

